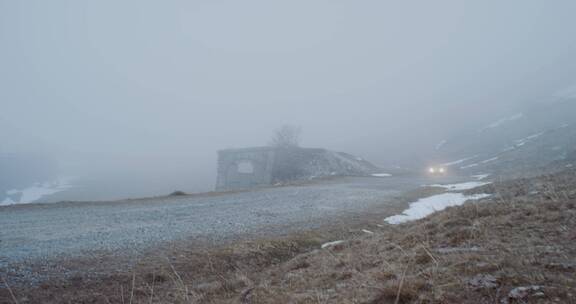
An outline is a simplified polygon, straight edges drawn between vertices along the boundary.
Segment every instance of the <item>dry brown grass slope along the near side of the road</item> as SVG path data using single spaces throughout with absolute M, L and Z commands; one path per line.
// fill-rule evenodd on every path
M 575 181 L 572 171 L 496 183 L 476 190 L 493 193 L 488 200 L 382 222 L 374 234 L 174 248 L 131 273 L 50 282 L 14 298 L 0 290 L 0 303 L 576 303 Z M 510 298 L 522 286 L 541 287 Z

